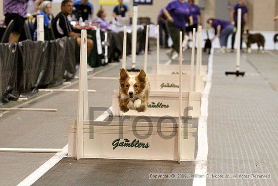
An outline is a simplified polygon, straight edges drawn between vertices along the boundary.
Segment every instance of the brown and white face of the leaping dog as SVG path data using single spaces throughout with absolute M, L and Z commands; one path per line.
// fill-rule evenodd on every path
M 132 99 L 135 95 L 140 94 L 146 86 L 146 73 L 142 69 L 139 73 L 127 72 L 124 68 L 120 72 L 121 93 Z

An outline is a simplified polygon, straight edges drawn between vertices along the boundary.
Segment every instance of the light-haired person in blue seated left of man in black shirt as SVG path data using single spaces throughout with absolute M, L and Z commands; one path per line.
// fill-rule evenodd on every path
M 43 23 L 44 23 L 44 40 L 51 40 L 51 21 L 53 19 L 53 14 L 51 13 L 52 3 L 51 1 L 43 1 L 40 3 L 38 7 L 38 15 L 43 15 Z M 37 40 L 37 22 L 34 24 L 34 36 L 33 40 Z

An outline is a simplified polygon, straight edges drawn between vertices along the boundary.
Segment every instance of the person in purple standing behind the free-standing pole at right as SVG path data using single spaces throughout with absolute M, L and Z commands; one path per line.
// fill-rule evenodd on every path
M 248 24 L 248 9 L 246 7 L 246 0 L 240 0 L 234 7 L 234 9 L 230 13 L 230 21 L 231 24 L 235 25 L 235 27 L 238 26 L 238 9 L 241 9 L 241 49 L 242 49 L 242 34 L 245 29 L 245 25 Z M 231 52 L 234 51 L 234 45 L 235 45 L 235 39 L 236 39 L 236 31 L 233 33 L 233 36 L 231 37 Z

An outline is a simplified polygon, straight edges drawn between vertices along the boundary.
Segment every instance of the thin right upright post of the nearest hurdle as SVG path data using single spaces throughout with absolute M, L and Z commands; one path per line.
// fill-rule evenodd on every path
M 178 147 L 177 147 L 177 162 L 181 160 L 181 114 L 182 114 L 182 32 L 179 32 L 179 88 L 178 88 Z

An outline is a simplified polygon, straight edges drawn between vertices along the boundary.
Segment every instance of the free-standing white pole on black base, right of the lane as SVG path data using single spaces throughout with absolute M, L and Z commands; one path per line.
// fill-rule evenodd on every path
M 241 58 L 241 14 L 242 11 L 241 9 L 238 9 L 238 28 L 237 28 L 237 71 L 232 72 L 232 71 L 226 71 L 225 75 L 236 75 L 238 76 L 244 76 L 245 72 L 240 71 L 240 58 Z

